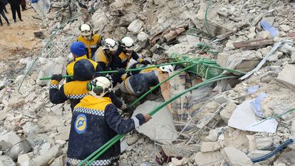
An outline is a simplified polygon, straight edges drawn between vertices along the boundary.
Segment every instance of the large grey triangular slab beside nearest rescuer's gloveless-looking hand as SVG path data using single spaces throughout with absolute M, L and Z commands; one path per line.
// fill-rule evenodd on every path
M 145 101 L 145 103 L 136 108 L 133 115 L 148 113 L 150 110 L 157 107 L 157 105 L 160 105 L 160 103 L 149 100 Z M 145 123 L 136 130 L 138 130 L 139 133 L 147 135 L 151 140 L 156 140 L 165 144 L 167 142 L 171 143 L 178 138 L 177 133 L 173 132 L 176 128 L 173 123 L 172 114 L 167 107 L 162 108 L 148 123 Z

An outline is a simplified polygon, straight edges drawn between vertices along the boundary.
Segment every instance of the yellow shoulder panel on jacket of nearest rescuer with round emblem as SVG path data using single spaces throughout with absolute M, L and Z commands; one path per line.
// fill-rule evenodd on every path
M 75 106 L 75 108 L 105 111 L 105 107 L 111 103 L 112 101 L 108 97 L 95 98 L 92 95 L 87 95 Z

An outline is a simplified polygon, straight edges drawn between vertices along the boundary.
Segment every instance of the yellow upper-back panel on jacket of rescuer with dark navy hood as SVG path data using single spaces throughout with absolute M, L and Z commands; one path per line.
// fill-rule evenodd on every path
M 86 86 L 89 81 L 72 81 L 63 85 L 67 98 L 81 99 L 89 94 Z

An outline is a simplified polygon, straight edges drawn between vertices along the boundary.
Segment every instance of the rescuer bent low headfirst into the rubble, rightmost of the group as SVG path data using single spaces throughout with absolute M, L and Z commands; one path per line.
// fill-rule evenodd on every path
M 144 68 L 145 65 L 135 63 L 130 68 Z M 157 85 L 159 82 L 157 76 L 160 73 L 173 71 L 171 65 L 161 66 L 159 68 L 149 68 L 143 71 L 133 71 L 128 73 L 130 77 L 126 78 L 120 85 L 119 88 L 123 93 L 129 93 L 130 95 L 141 96 L 148 92 L 150 88 Z

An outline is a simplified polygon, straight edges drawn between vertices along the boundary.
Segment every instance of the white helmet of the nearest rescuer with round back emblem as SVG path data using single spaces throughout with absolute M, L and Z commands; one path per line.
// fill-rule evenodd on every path
M 113 84 L 106 77 L 97 77 L 91 80 L 87 84 L 87 90 L 90 95 L 93 95 L 95 98 L 102 98 L 103 95 L 110 92 L 113 89 Z

